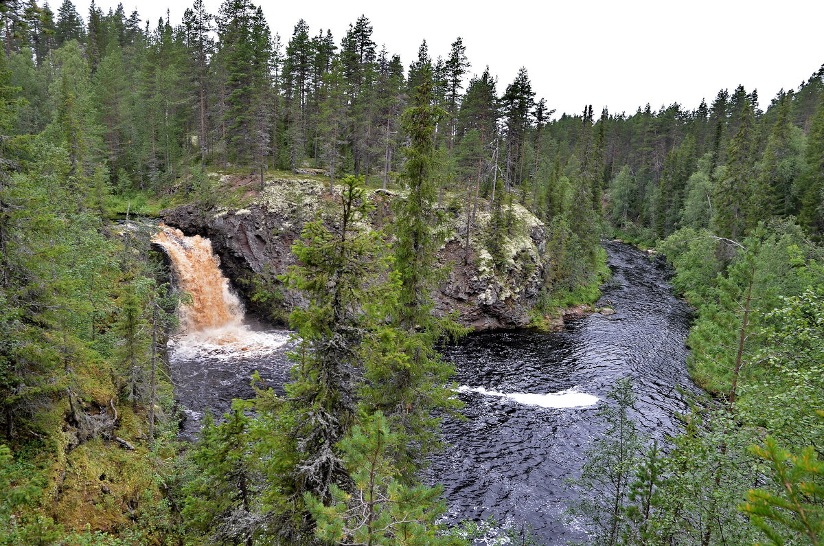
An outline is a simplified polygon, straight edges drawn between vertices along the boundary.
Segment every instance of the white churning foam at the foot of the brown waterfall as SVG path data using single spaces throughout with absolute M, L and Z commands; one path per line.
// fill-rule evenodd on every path
M 291 337 L 292 332 L 285 330 L 259 332 L 232 324 L 184 333 L 171 340 L 169 346 L 172 360 L 260 358 L 279 351 Z

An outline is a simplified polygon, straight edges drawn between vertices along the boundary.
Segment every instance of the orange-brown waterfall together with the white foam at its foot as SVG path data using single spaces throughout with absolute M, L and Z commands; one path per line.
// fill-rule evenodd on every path
M 241 300 L 220 271 L 220 260 L 208 238 L 187 237 L 180 229 L 160 224 L 152 239 L 166 251 L 176 287 L 190 294 L 177 309 L 180 332 L 172 341 L 172 358 L 194 355 L 224 359 L 260 356 L 283 346 L 285 337 L 255 332 L 244 323 Z

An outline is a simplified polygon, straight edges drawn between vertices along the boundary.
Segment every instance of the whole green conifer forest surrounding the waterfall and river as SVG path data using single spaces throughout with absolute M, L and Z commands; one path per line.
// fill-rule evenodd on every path
M 557 329 L 597 311 L 614 239 L 691 306 L 700 389 L 653 440 L 616 379 L 567 480 L 579 543 L 824 544 L 824 67 L 768 101 L 559 114 L 527 68 L 499 82 L 457 36 L 400 59 L 366 16 L 279 36 L 249 0 L 7 0 L 0 35 L 0 544 L 545 544 L 450 518 L 425 472 L 464 404 L 440 349 L 472 329 L 438 287 L 535 279 L 518 325 Z M 277 185 L 292 261 L 232 282 L 293 332 L 291 374 L 183 438 L 162 211 Z

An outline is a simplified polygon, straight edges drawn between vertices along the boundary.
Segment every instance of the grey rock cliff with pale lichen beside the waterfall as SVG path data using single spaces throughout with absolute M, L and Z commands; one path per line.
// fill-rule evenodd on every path
M 391 233 L 391 201 L 403 195 L 381 190 L 370 193 L 377 205 L 372 224 Z M 244 209 L 204 210 L 185 205 L 164 211 L 163 219 L 186 234 L 199 233 L 212 240 L 224 272 L 246 296 L 250 311 L 283 318 L 302 300 L 299 294 L 283 289 L 275 275 L 295 263 L 291 246 L 300 237 L 302 225 L 334 206 L 335 197 L 322 181 L 274 179 L 266 181 L 265 190 Z M 513 205 L 512 228 L 496 267 L 486 248 L 488 205 L 479 201 L 468 249 L 467 206 L 451 198 L 441 207 L 447 218 L 447 239 L 438 252 L 438 262 L 446 275 L 433 292 L 436 312 L 456 311 L 463 324 L 477 330 L 525 326 L 530 321 L 527 311 L 544 279 L 545 226 L 527 209 Z M 261 298 L 261 285 L 275 297 Z

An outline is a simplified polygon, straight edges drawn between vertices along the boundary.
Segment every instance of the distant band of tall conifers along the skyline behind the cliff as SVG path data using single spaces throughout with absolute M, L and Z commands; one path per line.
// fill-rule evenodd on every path
M 824 228 L 822 71 L 765 111 L 740 86 L 692 110 L 596 118 L 585 106 L 551 120 L 551 99 L 536 100 L 526 68 L 499 85 L 461 38 L 435 59 L 424 41 L 407 66 L 377 48 L 365 16 L 339 39 L 303 20 L 288 39 L 272 35 L 243 0 L 217 14 L 195 2 L 179 22 L 94 3 L 84 19 L 68 0 L 56 14 L 7 2 L 3 17 L 12 85 L 26 99 L 16 130 L 68 130 L 83 168 L 105 167 L 115 191 L 166 189 L 197 161 L 391 183 L 406 139 L 400 115 L 431 78 L 443 189 L 502 200 L 500 182 L 545 220 L 590 199 L 648 240 L 708 223 L 740 237 L 774 214 Z

